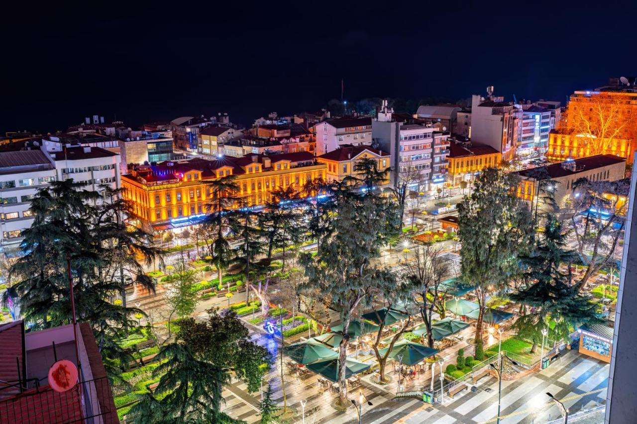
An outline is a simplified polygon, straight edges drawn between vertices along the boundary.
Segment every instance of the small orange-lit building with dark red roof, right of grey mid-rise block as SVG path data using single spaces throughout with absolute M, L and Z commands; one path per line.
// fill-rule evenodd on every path
M 460 143 L 451 143 L 447 156 L 450 186 L 460 187 L 461 181 L 469 183 L 482 169 L 497 167 L 500 163 L 500 157 L 500 152 L 491 146 L 471 145 L 464 147 Z

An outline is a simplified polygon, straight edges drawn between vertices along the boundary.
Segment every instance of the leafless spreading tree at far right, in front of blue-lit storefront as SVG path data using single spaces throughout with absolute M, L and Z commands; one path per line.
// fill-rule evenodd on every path
M 586 267 L 586 272 L 576 282 L 582 289 L 590 276 L 611 265 L 614 260 L 626 225 L 630 187 L 626 180 L 590 181 L 580 178 L 573 183 L 573 188 L 571 228 L 577 251 Z

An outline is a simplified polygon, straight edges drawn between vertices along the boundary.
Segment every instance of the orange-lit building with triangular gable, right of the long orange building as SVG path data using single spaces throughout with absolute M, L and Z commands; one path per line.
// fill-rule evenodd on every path
M 332 152 L 317 157 L 319 164 L 327 166 L 327 182 L 343 181 L 347 176 L 355 176 L 356 162 L 361 159 L 375 159 L 378 171 L 385 171 L 390 166 L 389 153 L 382 152 L 369 146 L 343 145 Z M 389 173 L 383 185 L 389 184 Z

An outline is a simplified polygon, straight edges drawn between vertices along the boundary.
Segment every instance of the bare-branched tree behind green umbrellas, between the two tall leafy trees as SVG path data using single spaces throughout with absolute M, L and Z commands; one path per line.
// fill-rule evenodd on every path
M 400 274 L 411 291 L 422 297 L 420 314 L 427 329 L 427 344 L 433 348 L 432 316 L 440 302 L 445 301 L 447 293 L 441 283 L 452 276 L 450 259 L 442 255 L 442 248 L 438 246 L 416 246 L 413 260 L 402 264 Z

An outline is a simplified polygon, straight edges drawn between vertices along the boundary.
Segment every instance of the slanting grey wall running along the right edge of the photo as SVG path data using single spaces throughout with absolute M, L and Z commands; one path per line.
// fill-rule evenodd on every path
M 606 424 L 631 424 L 637 421 L 637 222 L 635 194 L 637 168 L 633 168 L 628 205 L 622 271 L 617 293 L 615 334 L 610 360 L 606 398 Z

